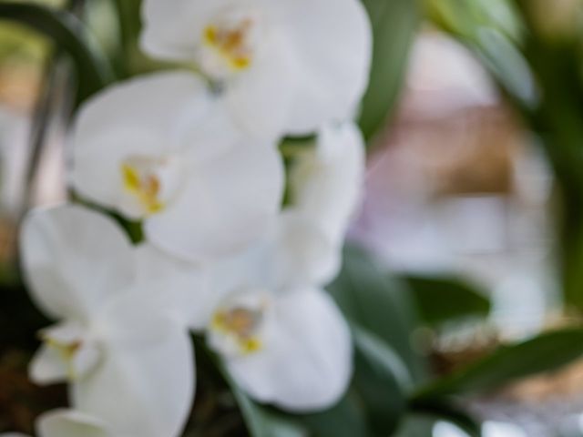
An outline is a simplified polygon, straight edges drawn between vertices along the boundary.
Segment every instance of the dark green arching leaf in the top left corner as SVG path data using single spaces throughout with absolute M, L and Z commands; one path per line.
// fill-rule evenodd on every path
M 78 101 L 83 101 L 112 81 L 113 75 L 106 57 L 91 41 L 86 27 L 75 15 L 42 5 L 1 2 L 0 20 L 33 28 L 71 56 L 77 69 Z

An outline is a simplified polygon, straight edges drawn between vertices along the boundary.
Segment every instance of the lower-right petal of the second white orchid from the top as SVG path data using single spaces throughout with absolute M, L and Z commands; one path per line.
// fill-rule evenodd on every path
M 281 157 L 274 147 L 243 140 L 191 169 L 172 208 L 146 220 L 150 242 L 183 259 L 205 261 L 242 249 L 261 235 L 279 209 Z

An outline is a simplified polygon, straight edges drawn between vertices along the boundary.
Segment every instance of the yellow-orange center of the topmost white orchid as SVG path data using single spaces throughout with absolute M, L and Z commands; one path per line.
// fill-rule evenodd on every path
M 251 19 L 244 19 L 234 26 L 208 25 L 204 29 L 204 42 L 216 51 L 235 71 L 251 66 L 252 49 Z

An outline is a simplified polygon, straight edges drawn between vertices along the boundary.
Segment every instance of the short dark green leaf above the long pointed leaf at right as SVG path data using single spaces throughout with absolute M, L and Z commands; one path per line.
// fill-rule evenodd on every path
M 466 317 L 485 317 L 490 312 L 485 293 L 464 279 L 413 275 L 403 279 L 414 294 L 421 319 L 431 326 Z

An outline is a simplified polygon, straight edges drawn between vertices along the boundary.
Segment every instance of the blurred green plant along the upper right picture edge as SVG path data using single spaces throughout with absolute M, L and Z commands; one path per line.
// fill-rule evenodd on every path
M 583 5 L 560 1 L 426 2 L 435 24 L 470 47 L 538 138 L 557 180 L 558 252 L 568 310 L 583 310 Z M 496 14 L 492 11 L 495 10 Z

